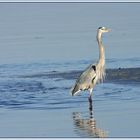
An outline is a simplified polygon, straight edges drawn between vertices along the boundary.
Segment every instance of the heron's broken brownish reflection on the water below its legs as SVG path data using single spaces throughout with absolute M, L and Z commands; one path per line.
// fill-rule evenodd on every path
M 73 121 L 76 134 L 80 135 L 80 137 L 107 137 L 106 131 L 102 130 L 101 128 L 97 128 L 92 110 L 89 110 L 88 118 L 82 117 L 81 114 L 82 113 L 79 112 L 73 112 Z

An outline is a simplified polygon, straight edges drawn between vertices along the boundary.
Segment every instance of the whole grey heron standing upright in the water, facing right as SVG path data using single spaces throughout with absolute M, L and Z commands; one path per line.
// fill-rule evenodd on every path
M 82 90 L 89 90 L 89 103 L 92 109 L 92 91 L 97 83 L 103 82 L 105 78 L 105 54 L 102 44 L 102 33 L 109 32 L 106 27 L 99 27 L 97 30 L 97 42 L 99 46 L 99 60 L 95 64 L 91 64 L 76 80 L 75 85 L 71 89 L 71 94 L 76 95 Z

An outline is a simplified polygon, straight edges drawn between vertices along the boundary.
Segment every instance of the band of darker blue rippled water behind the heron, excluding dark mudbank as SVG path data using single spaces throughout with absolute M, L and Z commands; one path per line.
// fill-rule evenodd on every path
M 114 68 L 117 65 L 126 68 L 130 67 L 129 64 L 132 63 L 134 67 L 138 67 L 139 61 L 138 58 L 112 59 L 107 60 L 106 63 L 108 68 Z M 84 70 L 90 63 L 91 61 L 87 60 L 0 65 L 0 106 L 1 108 L 14 109 L 63 109 L 77 107 L 79 102 L 84 104 L 87 102 L 85 100 L 87 94 L 83 94 L 79 98 L 72 98 L 69 93 L 75 78 L 64 78 L 61 72 Z M 57 77 L 56 73 L 60 73 L 60 75 Z M 139 96 L 139 91 L 137 91 L 139 87 L 137 86 L 133 87 L 131 84 L 128 86 L 117 85 L 117 88 L 115 86 L 113 83 L 98 85 L 95 89 L 96 100 L 125 101 L 137 99 Z M 102 88 L 104 89 L 103 93 L 96 93 Z M 137 93 L 133 90 L 136 90 Z M 131 94 L 131 92 L 134 93 Z

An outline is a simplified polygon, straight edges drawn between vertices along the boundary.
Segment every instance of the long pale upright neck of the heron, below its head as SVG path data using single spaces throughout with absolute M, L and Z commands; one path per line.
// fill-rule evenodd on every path
M 105 54 L 104 54 L 104 47 L 102 44 L 102 33 L 100 31 L 97 32 L 97 42 L 99 46 L 99 62 L 102 66 L 105 64 Z

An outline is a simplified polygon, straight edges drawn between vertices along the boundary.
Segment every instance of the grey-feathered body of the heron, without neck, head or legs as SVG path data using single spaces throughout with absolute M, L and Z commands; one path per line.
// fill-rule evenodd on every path
M 105 63 L 104 63 L 105 64 Z M 89 90 L 90 94 L 94 86 L 97 83 L 103 82 L 105 77 L 104 64 L 100 66 L 97 64 L 91 64 L 77 79 L 73 89 L 72 95 L 76 95 L 82 90 Z

